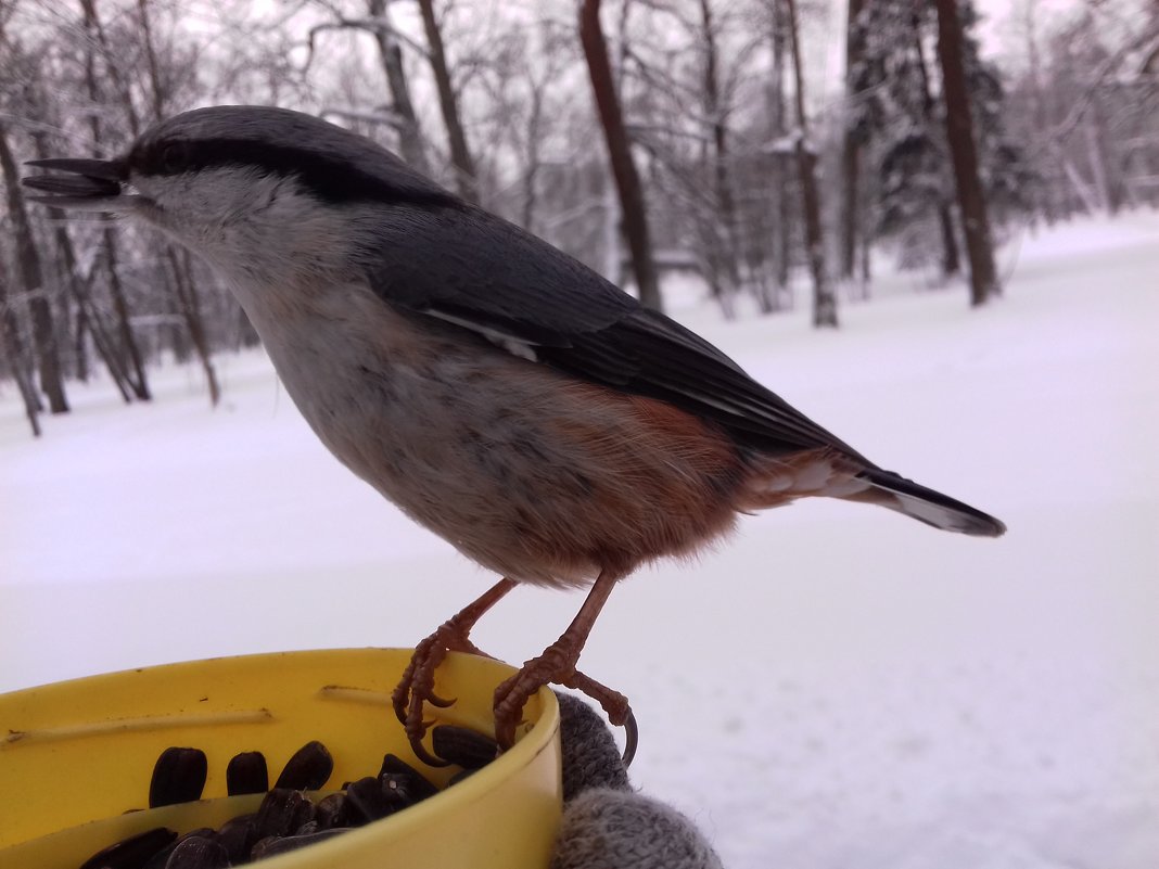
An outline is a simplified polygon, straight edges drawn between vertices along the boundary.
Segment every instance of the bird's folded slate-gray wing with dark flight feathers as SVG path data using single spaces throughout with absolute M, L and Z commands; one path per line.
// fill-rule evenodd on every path
M 395 216 L 367 256 L 371 286 L 392 306 L 518 342 L 540 364 L 670 402 L 764 451 L 833 446 L 873 467 L 707 341 L 541 239 L 469 206 Z

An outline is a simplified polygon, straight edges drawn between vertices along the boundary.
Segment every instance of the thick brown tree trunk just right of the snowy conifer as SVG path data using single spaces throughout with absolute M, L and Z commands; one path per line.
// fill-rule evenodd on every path
M 936 0 L 938 57 L 946 98 L 946 134 L 954 161 L 954 182 L 962 212 L 965 253 L 970 260 L 970 304 L 984 305 L 1001 294 L 990 239 L 986 197 L 978 177 L 978 152 L 970 117 L 970 95 L 962 65 L 962 24 L 955 0 Z

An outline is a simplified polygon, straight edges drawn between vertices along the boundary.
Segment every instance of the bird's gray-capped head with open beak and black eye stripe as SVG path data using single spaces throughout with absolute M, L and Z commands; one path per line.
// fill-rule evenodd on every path
M 30 165 L 50 171 L 24 178 L 36 202 L 144 220 L 235 283 L 284 280 L 291 264 L 340 269 L 399 212 L 459 204 L 371 140 L 268 107 L 177 115 L 114 160 Z

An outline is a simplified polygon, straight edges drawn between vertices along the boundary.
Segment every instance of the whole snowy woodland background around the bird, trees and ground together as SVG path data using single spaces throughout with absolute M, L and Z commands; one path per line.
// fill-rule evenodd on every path
M 373 138 L 1007 525 L 802 498 L 617 584 L 582 670 L 723 866 L 1159 867 L 1156 0 L 0 0 L 0 692 L 413 649 L 496 582 L 204 262 L 21 184 L 224 103 Z

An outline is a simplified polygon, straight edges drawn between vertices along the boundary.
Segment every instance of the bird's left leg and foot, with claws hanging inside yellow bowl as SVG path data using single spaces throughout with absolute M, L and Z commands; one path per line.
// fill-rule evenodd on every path
M 423 721 L 423 702 L 430 702 L 432 706 L 444 709 L 454 702 L 454 698 L 444 699 L 435 693 L 435 670 L 443 663 L 449 651 L 490 657 L 471 642 L 471 629 L 516 585 L 518 583 L 515 579 L 506 577 L 495 583 L 476 600 L 443 622 L 438 630 L 415 647 L 410 663 L 402 671 L 402 679 L 399 680 L 399 685 L 391 695 L 391 702 L 394 704 L 394 714 L 406 725 L 410 747 L 424 764 L 445 766 L 422 745 L 422 738 L 427 733 L 427 722 Z

